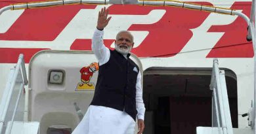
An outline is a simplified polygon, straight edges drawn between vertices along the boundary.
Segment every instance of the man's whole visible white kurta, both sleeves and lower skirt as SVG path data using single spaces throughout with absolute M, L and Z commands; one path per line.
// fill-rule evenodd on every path
M 96 29 L 93 35 L 92 49 L 99 65 L 108 62 L 110 50 L 103 44 L 103 31 Z M 144 120 L 145 107 L 142 99 L 140 72 L 136 84 L 136 109 L 138 111 L 137 118 Z M 72 134 L 134 134 L 134 131 L 135 120 L 126 112 L 91 105 Z

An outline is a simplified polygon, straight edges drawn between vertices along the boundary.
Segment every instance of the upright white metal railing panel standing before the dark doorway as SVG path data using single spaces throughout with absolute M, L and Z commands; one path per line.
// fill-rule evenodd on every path
M 212 94 L 212 127 L 218 127 L 219 134 L 233 134 L 228 93 L 224 71 L 220 71 L 218 60 L 213 59 L 210 89 Z

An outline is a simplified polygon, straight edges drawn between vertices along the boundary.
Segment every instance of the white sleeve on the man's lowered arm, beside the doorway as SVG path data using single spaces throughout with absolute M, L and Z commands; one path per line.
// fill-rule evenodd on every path
M 142 87 L 141 87 L 141 74 L 137 76 L 137 84 L 136 84 L 136 109 L 138 111 L 137 118 L 144 120 L 145 114 L 145 106 L 142 98 Z

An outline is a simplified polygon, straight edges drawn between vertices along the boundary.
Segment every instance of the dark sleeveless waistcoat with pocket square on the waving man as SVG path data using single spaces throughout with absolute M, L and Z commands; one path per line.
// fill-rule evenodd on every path
M 110 59 L 100 65 L 95 95 L 91 105 L 125 110 L 134 120 L 136 119 L 136 83 L 139 67 L 129 59 L 110 50 Z

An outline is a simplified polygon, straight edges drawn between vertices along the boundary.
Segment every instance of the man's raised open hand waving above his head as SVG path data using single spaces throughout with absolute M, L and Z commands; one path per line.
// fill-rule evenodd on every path
M 108 22 L 110 21 L 111 17 L 108 17 L 108 8 L 106 7 L 101 8 L 100 12 L 98 12 L 98 22 L 97 22 L 97 29 L 102 30 Z

